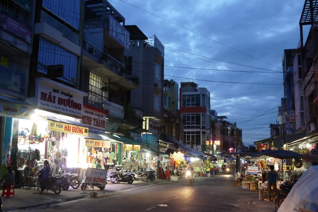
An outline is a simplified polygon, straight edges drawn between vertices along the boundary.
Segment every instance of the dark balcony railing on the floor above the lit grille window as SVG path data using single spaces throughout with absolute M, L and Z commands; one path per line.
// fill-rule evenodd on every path
M 86 40 L 83 41 L 83 48 L 86 50 L 89 54 L 98 57 L 101 60 L 104 60 L 106 62 L 106 66 L 113 69 L 113 71 L 123 76 L 124 74 L 131 75 L 131 71 L 126 70 L 125 65 L 120 63 L 118 60 L 116 60 L 114 57 L 110 56 L 106 52 L 103 52 L 102 50 L 95 47 L 93 44 L 87 42 Z

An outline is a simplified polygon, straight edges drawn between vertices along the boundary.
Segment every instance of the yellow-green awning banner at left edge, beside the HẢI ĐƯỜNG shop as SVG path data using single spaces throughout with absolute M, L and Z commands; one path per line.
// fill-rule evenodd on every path
M 20 105 L 0 100 L 0 116 L 31 119 L 31 105 Z

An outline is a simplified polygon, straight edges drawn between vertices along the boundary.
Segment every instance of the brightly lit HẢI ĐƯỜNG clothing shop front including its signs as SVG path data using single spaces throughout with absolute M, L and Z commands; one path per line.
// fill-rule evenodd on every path
M 88 127 L 80 123 L 86 93 L 47 78 L 36 79 L 35 97 L 27 102 L 36 109 L 30 120 L 17 120 L 18 170 L 21 183 L 32 183 L 37 169 L 48 160 L 53 174 L 60 168 L 79 173 L 88 166 L 85 137 Z

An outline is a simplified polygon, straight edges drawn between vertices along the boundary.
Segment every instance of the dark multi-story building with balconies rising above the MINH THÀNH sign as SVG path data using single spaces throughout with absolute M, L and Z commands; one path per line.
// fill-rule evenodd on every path
M 131 90 L 138 88 L 131 63 L 125 18 L 107 0 L 85 1 L 82 89 L 85 102 L 106 110 L 107 133 L 129 136 L 141 133 L 142 111 L 131 103 Z

